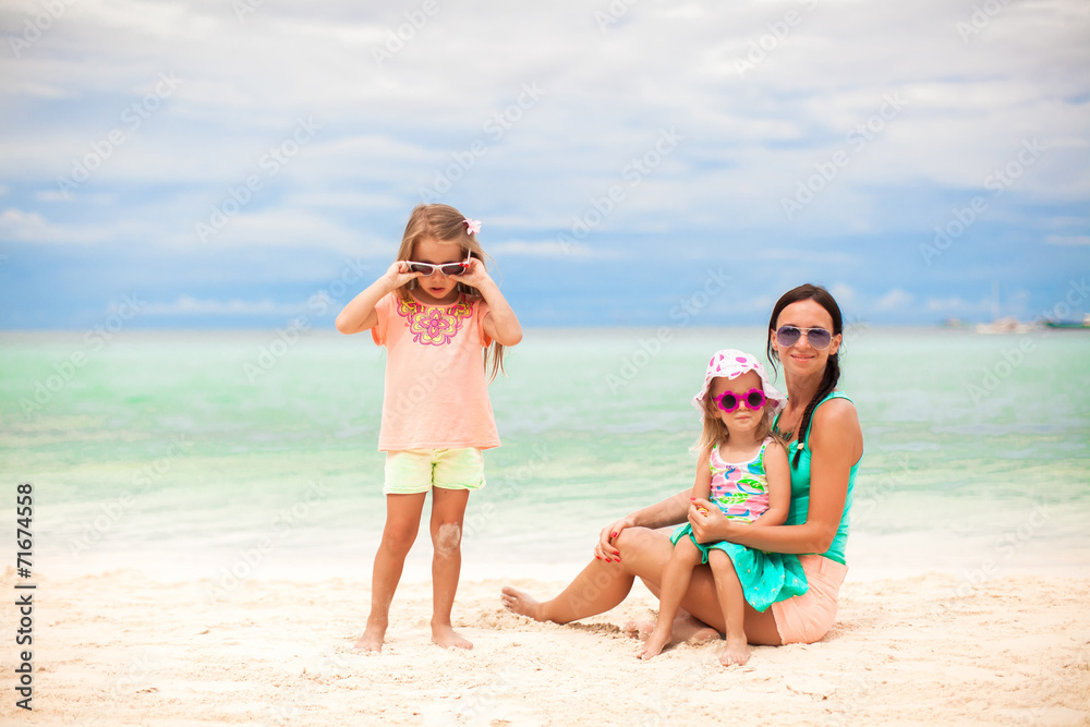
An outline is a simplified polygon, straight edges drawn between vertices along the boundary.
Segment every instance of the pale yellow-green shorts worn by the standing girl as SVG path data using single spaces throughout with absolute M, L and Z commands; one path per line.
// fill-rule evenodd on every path
M 401 449 L 386 452 L 384 495 L 415 495 L 432 487 L 484 487 L 484 457 L 476 447 Z

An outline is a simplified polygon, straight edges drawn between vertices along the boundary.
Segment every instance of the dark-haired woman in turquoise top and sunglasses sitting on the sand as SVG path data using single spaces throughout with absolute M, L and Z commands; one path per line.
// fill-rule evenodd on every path
M 746 635 L 752 644 L 813 643 L 833 626 L 837 594 L 847 566 L 851 489 L 863 455 L 863 436 L 851 400 L 839 391 L 837 352 L 844 322 L 836 301 L 811 284 L 789 290 L 776 302 L 768 322 L 768 360 L 784 367 L 787 405 L 776 428 L 789 443 L 791 508 L 777 528 L 750 528 L 727 520 L 717 507 L 690 501 L 690 488 L 637 510 L 603 529 L 591 561 L 559 595 L 538 603 L 504 589 L 505 605 L 538 621 L 567 623 L 609 610 L 628 595 L 637 578 L 658 595 L 663 567 L 673 546 L 669 530 L 688 518 L 702 543 L 730 541 L 774 553 L 799 554 L 809 590 L 773 604 L 766 611 L 746 606 Z M 801 443 L 801 444 L 800 444 Z M 698 507 L 706 516 L 698 517 Z M 725 623 L 712 572 L 698 568 L 682 608 L 723 632 Z M 700 625 L 675 625 L 675 634 Z

